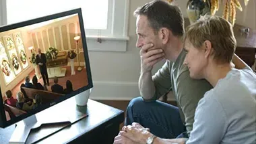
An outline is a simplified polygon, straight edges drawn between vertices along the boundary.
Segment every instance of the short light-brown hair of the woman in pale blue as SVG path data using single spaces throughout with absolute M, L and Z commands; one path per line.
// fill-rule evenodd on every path
M 218 16 L 205 15 L 189 25 L 185 40 L 189 40 L 195 48 L 201 48 L 206 40 L 210 41 L 214 60 L 221 63 L 231 62 L 236 50 L 231 23 Z

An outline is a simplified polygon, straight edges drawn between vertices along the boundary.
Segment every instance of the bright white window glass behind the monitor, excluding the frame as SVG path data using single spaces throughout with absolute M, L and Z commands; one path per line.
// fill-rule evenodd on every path
M 7 0 L 6 7 L 7 24 L 81 7 L 86 29 L 107 27 L 108 0 Z

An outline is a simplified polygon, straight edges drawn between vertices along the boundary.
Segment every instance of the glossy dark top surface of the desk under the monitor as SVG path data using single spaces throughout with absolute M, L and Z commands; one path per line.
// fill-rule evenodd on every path
M 61 131 L 46 137 L 46 139 L 42 139 L 38 143 L 69 143 L 74 139 L 82 137 L 82 135 L 85 135 L 86 133 L 90 133 L 90 131 L 97 129 L 98 127 L 106 127 L 106 125 L 109 125 L 110 121 L 111 123 L 123 123 L 123 111 L 94 100 L 88 100 L 87 106 L 76 106 L 75 98 L 73 97 L 60 104 L 65 106 L 63 111 L 67 113 L 73 111 L 72 114 L 77 115 L 77 117 L 79 117 L 79 114 L 87 113 L 88 117 L 65 127 Z M 58 127 L 61 126 L 59 125 Z M 5 129 L 0 128 L 0 143 L 8 143 L 14 129 L 14 125 Z M 42 135 L 45 135 L 47 132 L 49 133 L 52 129 L 57 128 L 51 125 L 43 125 L 39 130 L 32 130 L 26 143 L 33 143 L 38 137 L 42 137 Z

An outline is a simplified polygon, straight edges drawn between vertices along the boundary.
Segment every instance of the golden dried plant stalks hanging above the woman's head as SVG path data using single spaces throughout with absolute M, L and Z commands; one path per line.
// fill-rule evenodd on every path
M 166 0 L 168 3 L 172 3 L 174 0 Z M 191 1 L 191 0 L 189 0 Z M 240 11 L 243 11 L 243 8 L 241 6 L 241 3 L 238 0 L 194 0 L 194 1 L 210 1 L 211 3 L 211 15 L 215 15 L 216 11 L 219 9 L 220 3 L 223 3 L 224 5 L 224 10 L 222 17 L 226 19 L 227 21 L 230 18 L 230 23 L 234 25 L 234 21 L 236 21 L 236 8 L 239 9 Z M 249 0 L 243 0 L 245 3 L 245 6 L 248 5 Z

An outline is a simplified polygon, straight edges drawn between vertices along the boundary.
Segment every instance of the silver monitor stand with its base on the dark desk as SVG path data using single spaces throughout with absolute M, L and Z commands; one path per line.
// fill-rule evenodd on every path
M 29 137 L 30 131 L 36 128 L 39 128 L 42 133 L 36 133 L 36 139 L 32 138 L 32 143 L 45 139 L 65 127 L 69 127 L 73 123 L 88 117 L 86 111 L 87 106 L 77 106 L 73 96 L 17 123 L 9 143 L 26 143 L 27 139 L 31 140 Z M 40 127 L 42 125 L 50 125 L 50 130 L 45 129 L 46 127 Z M 31 134 L 34 135 L 35 133 Z

